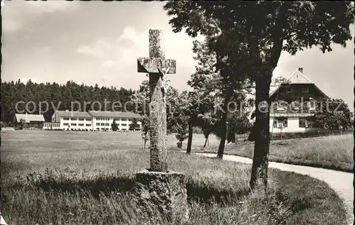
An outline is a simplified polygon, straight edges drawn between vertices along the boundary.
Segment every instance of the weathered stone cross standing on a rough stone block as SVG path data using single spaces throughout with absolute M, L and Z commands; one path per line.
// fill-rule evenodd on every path
M 166 102 L 167 74 L 176 72 L 176 61 L 166 60 L 163 31 L 149 30 L 149 57 L 137 60 L 138 72 L 149 74 L 151 171 L 167 172 Z

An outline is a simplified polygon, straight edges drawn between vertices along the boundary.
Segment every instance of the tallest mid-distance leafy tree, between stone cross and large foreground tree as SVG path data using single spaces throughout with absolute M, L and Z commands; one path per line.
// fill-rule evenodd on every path
M 207 39 L 208 40 L 208 39 Z M 203 96 L 202 105 L 204 108 L 200 111 L 195 110 L 195 115 L 197 114 L 206 114 L 209 113 L 209 116 L 200 116 L 200 119 L 207 119 L 210 116 L 215 116 L 216 119 L 212 122 L 212 117 L 209 120 L 200 121 L 200 124 L 203 126 L 206 141 L 209 136 L 209 133 L 212 131 L 219 136 L 219 150 L 217 157 L 222 158 L 224 153 L 224 144 L 226 141 L 226 121 L 229 108 L 229 102 L 231 100 L 238 100 L 238 104 L 244 100 L 244 93 L 241 92 L 241 89 L 245 87 L 245 82 L 241 82 L 240 79 L 236 76 L 231 75 L 231 71 L 228 70 L 217 70 L 217 65 L 224 65 L 229 67 L 225 63 L 225 60 L 221 59 L 217 55 L 217 51 L 209 45 L 208 41 L 200 42 L 195 40 L 193 51 L 195 53 L 194 59 L 197 61 L 196 72 L 191 76 L 188 84 L 195 90 L 195 92 L 201 93 Z M 249 90 L 248 87 L 245 87 L 246 90 Z M 215 104 L 214 100 L 221 104 Z M 211 114 L 211 112 L 213 113 Z M 198 121 L 195 119 L 194 121 Z M 209 128 L 207 128 L 207 127 Z M 212 130 L 214 128 L 214 130 Z M 190 136 L 190 135 L 189 135 Z M 191 135 L 192 136 L 192 135 Z M 192 138 L 191 138 L 192 139 Z M 190 138 L 189 138 L 190 140 Z M 188 142 L 187 153 L 190 153 L 190 145 Z

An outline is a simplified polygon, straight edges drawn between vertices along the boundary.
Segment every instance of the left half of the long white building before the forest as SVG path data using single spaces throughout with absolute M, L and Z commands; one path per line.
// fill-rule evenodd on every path
M 52 123 L 59 123 L 62 130 L 92 131 L 92 116 L 86 111 L 55 111 Z

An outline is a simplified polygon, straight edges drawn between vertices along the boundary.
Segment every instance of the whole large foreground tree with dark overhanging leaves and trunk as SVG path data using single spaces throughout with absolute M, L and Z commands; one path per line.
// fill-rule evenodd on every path
M 209 36 L 219 43 L 219 57 L 240 68 L 256 83 L 256 122 L 251 189 L 266 193 L 268 184 L 269 91 L 273 70 L 282 51 L 346 46 L 351 39 L 354 5 L 350 1 L 168 1 L 164 6 L 174 32 L 187 28 L 189 35 Z M 224 40 L 224 41 L 222 41 Z M 217 48 L 215 48 L 217 50 Z M 233 64 L 234 62 L 234 64 Z M 234 66 L 233 66 L 234 65 Z M 222 66 L 223 69 L 223 66 Z M 235 74 L 239 75 L 237 70 Z

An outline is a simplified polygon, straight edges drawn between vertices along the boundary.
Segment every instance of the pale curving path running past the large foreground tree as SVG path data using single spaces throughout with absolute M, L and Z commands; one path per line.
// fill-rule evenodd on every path
M 215 158 L 216 154 L 212 153 L 196 153 L 197 155 L 204 155 L 210 158 Z M 240 163 L 252 163 L 249 158 L 243 158 L 236 155 L 223 155 L 224 160 L 240 162 Z M 354 199 L 354 189 L 353 189 L 353 179 L 354 175 L 350 172 L 339 172 L 335 170 L 326 170 L 322 168 L 312 168 L 302 165 L 289 165 L 285 163 L 269 163 L 270 168 L 276 168 L 279 170 L 297 172 L 302 175 L 310 175 L 310 177 L 315 177 L 319 180 L 326 182 L 333 190 L 339 194 L 346 204 L 347 212 L 349 213 L 349 224 L 354 222 L 353 209 L 353 199 Z

